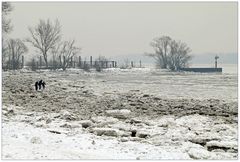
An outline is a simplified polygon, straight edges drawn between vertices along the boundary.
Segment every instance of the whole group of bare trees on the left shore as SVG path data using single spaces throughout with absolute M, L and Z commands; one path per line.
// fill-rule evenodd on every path
M 25 42 L 30 43 L 32 47 L 38 50 L 43 56 L 44 65 L 49 67 L 49 57 L 57 67 L 63 70 L 69 66 L 70 60 L 80 53 L 80 48 L 76 46 L 74 39 L 69 41 L 62 40 L 61 25 L 58 20 L 51 22 L 40 20 L 34 27 L 29 27 L 30 37 L 24 40 L 8 38 L 8 34 L 13 30 L 11 20 L 8 15 L 13 10 L 9 2 L 2 3 L 2 67 L 8 69 L 19 69 L 23 66 L 23 54 L 28 52 Z M 56 58 L 62 58 L 56 59 Z M 32 59 L 33 60 L 33 59 Z M 64 61 L 63 61 L 64 60 Z

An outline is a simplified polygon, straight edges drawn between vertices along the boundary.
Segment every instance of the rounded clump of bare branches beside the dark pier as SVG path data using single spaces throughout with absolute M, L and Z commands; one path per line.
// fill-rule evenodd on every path
M 163 36 L 153 39 L 150 45 L 155 53 L 147 55 L 156 60 L 157 66 L 171 70 L 179 70 L 188 66 L 191 50 L 186 43 Z

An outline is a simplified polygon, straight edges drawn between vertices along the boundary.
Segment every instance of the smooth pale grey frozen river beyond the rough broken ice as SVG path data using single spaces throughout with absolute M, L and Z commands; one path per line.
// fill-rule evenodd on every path
M 63 74 L 64 75 L 64 74 Z M 236 73 L 184 73 L 155 69 L 109 69 L 104 73 L 81 73 L 67 79 L 85 80 L 95 93 L 140 90 L 163 98 L 223 99 L 237 101 Z

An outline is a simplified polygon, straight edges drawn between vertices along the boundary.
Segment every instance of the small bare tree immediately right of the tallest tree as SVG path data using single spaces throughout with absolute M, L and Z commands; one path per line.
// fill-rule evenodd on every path
M 63 42 L 62 47 L 60 48 L 60 58 L 63 57 L 63 60 L 60 59 L 60 64 L 63 70 L 66 70 L 66 68 L 70 64 L 70 60 L 77 53 L 79 53 L 80 50 L 81 50 L 80 48 L 75 46 L 75 40 Z

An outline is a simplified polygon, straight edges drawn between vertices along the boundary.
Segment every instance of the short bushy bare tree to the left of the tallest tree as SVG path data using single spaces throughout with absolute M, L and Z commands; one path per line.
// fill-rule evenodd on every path
M 20 39 L 10 39 L 8 41 L 8 52 L 11 56 L 11 64 L 14 70 L 20 68 L 20 58 L 27 51 L 27 47 Z

